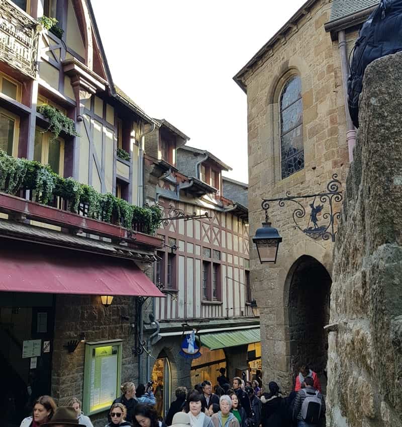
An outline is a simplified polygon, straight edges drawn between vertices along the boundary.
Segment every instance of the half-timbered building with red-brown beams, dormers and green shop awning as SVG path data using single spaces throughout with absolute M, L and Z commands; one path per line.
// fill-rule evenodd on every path
M 237 193 L 229 199 L 222 177 L 229 166 L 185 145 L 189 138 L 166 120 L 157 122 L 160 128 L 145 141 L 145 199 L 164 208 L 157 236 L 165 248 L 157 251 L 154 283 L 167 296 L 154 298 L 148 308 L 155 324 L 144 333 L 151 354 L 142 378 L 155 381 L 163 415 L 177 386 L 192 388 L 204 380 L 215 386 L 222 367 L 230 378 L 251 377 L 261 359 L 249 281 L 248 211 L 238 202 L 246 200 L 247 185 L 232 181 Z M 196 358 L 183 350 L 192 331 Z

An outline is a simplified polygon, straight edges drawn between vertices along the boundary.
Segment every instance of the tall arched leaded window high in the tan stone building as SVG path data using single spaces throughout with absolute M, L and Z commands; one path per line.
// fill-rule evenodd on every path
M 282 179 L 305 166 L 302 80 L 294 75 L 280 95 L 280 159 Z

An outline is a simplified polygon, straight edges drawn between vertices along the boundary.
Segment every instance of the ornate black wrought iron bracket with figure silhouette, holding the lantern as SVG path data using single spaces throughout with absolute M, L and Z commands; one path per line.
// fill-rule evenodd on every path
M 285 206 L 286 202 L 293 202 L 298 205 L 292 214 L 294 229 L 299 229 L 314 240 L 321 237 L 323 240 L 329 240 L 331 238 L 334 242 L 337 233 L 334 227 L 334 220 L 339 219 L 340 212 L 334 212 L 333 204 L 342 201 L 342 191 L 339 190 L 342 184 L 337 178 L 337 174 L 332 176 L 332 180 L 327 184 L 327 191 L 323 193 L 291 196 L 290 192 L 287 191 L 286 197 L 263 199 L 261 207 L 265 211 L 265 222 L 269 221 L 268 209 L 270 202 L 278 202 L 281 208 Z M 299 202 L 301 199 L 313 199 L 313 201 L 309 203 L 311 212 L 306 227 L 300 225 L 300 220 L 306 218 L 306 208 Z M 318 199 L 321 204 L 316 204 L 316 199 Z M 327 205 L 328 210 L 325 209 Z M 322 213 L 323 211 L 324 213 Z M 322 218 L 319 218 L 319 216 L 322 216 Z

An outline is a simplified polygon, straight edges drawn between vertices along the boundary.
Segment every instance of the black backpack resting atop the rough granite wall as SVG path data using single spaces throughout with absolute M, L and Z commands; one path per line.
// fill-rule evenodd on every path
M 367 65 L 402 50 L 402 0 L 380 0 L 360 29 L 352 50 L 348 78 L 348 105 L 353 124 L 359 127 L 359 96 Z M 351 53 L 352 53 L 351 52 Z

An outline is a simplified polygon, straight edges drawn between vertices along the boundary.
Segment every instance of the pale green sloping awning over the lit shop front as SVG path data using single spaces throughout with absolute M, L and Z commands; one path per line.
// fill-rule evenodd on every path
M 210 350 L 226 347 L 244 346 L 245 344 L 261 341 L 260 328 L 231 330 L 228 332 L 214 332 L 199 335 L 201 344 Z

